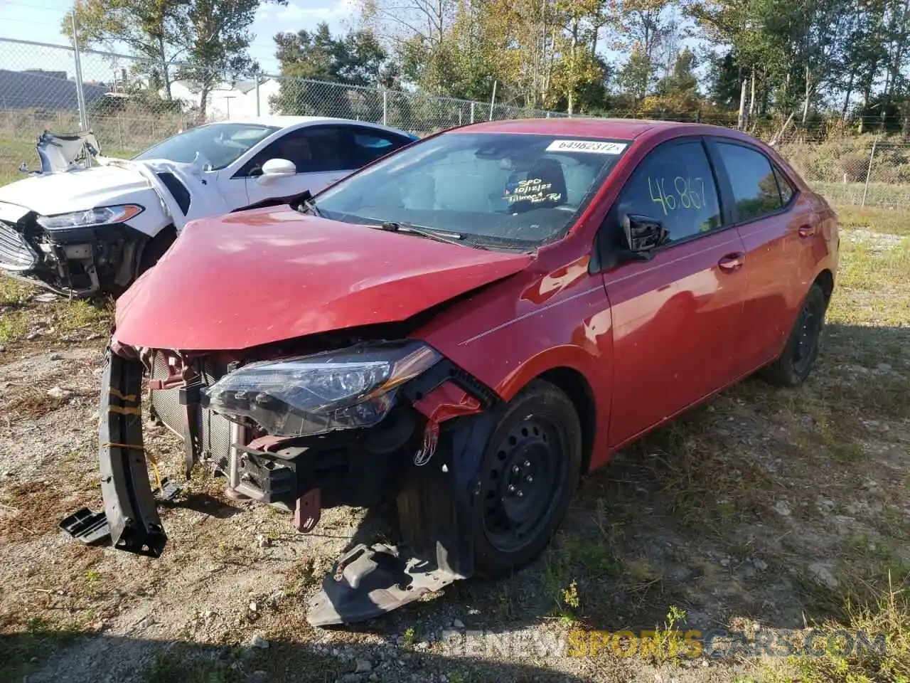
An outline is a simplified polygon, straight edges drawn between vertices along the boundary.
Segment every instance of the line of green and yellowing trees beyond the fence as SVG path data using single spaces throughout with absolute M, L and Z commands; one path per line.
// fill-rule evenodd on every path
M 205 94 L 258 68 L 259 2 L 80 0 L 75 11 L 81 42 L 126 44 L 167 98 L 175 78 Z M 910 132 L 910 0 L 355 2 L 347 33 L 274 36 L 281 75 L 572 114 Z M 288 85 L 278 106 L 304 113 L 318 97 Z

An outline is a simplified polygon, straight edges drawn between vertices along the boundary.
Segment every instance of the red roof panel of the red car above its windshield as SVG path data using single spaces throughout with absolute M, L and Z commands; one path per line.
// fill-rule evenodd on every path
M 490 121 L 460 127 L 461 132 L 482 133 L 541 133 L 592 138 L 632 140 L 649 130 L 670 127 L 698 128 L 699 132 L 715 132 L 716 127 L 675 121 L 651 121 L 636 118 L 520 118 Z M 721 128 L 721 130 L 726 130 Z M 453 131 L 456 132 L 456 131 Z

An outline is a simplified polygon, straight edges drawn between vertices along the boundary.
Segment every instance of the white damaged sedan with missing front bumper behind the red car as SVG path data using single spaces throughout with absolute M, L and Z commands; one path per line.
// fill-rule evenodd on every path
M 415 139 L 341 118 L 262 117 L 190 128 L 119 159 L 90 133 L 45 132 L 41 170 L 0 188 L 0 273 L 67 296 L 117 295 L 187 221 L 316 194 Z

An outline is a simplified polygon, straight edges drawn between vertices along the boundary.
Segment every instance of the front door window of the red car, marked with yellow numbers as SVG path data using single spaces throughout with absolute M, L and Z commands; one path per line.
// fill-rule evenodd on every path
M 632 173 L 616 207 L 620 221 L 625 214 L 661 220 L 672 242 L 719 228 L 717 186 L 701 140 L 654 149 Z

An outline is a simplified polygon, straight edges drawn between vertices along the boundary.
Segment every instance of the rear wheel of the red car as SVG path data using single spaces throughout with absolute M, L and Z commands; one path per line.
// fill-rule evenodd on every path
M 813 284 L 796 317 L 794 328 L 790 331 L 784 352 L 759 372 L 765 382 L 794 387 L 805 381 L 818 356 L 818 342 L 824 327 L 826 308 L 824 291 L 817 283 Z

